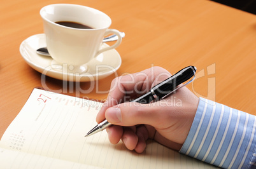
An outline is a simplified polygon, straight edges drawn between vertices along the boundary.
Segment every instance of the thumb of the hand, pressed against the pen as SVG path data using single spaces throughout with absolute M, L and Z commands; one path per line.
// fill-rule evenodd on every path
M 106 109 L 105 117 L 113 125 L 134 126 L 145 124 L 155 126 L 159 118 L 158 114 L 157 106 L 126 102 Z

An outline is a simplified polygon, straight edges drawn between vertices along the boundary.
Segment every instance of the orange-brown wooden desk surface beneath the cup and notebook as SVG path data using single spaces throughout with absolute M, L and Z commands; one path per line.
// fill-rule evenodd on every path
M 101 10 L 111 28 L 125 32 L 117 48 L 122 65 L 117 74 L 96 82 L 69 83 L 46 78 L 49 90 L 104 99 L 115 76 L 152 65 L 174 73 L 197 67 L 188 85 L 199 97 L 241 111 L 255 112 L 256 17 L 212 1 L 1 1 L 0 5 L 0 138 L 25 104 L 32 88 L 42 86 L 41 74 L 25 63 L 19 46 L 43 33 L 39 10 L 47 4 L 73 3 Z M 88 88 L 94 86 L 89 93 Z M 68 88 L 65 91 L 65 88 Z M 99 93 L 100 91 L 100 93 Z

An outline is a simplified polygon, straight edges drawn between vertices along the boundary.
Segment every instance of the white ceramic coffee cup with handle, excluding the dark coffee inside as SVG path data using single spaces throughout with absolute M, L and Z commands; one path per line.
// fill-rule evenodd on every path
M 43 18 L 48 51 L 59 64 L 80 67 L 100 53 L 117 48 L 122 41 L 118 30 L 108 29 L 111 18 L 94 8 L 77 4 L 50 4 L 41 9 L 40 15 Z M 55 23 L 61 21 L 76 22 L 92 29 L 76 29 Z M 116 34 L 118 40 L 101 49 L 107 34 Z

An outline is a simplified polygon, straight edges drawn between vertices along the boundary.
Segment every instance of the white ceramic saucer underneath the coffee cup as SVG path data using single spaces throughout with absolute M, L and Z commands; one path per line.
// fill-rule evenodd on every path
M 116 50 L 108 50 L 92 58 L 86 64 L 88 67 L 87 72 L 74 73 L 73 71 L 69 71 L 70 68 L 65 64 L 57 65 L 59 67 L 57 69 L 56 67 L 53 68 L 51 65 L 53 59 L 51 57 L 38 55 L 36 50 L 44 46 L 46 46 L 45 34 L 36 34 L 28 37 L 20 44 L 20 53 L 25 62 L 33 69 L 55 79 L 80 82 L 95 81 L 110 76 L 110 74 L 113 74 L 119 69 L 122 63 L 121 57 Z M 103 43 L 104 46 L 108 46 L 108 44 Z M 64 69 L 65 67 L 66 69 Z

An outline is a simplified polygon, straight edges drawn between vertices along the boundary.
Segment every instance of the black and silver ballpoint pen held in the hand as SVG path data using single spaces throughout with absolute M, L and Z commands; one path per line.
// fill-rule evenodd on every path
M 148 93 L 146 93 L 145 95 L 142 95 L 141 97 L 136 98 L 132 102 L 148 104 L 153 100 L 160 100 L 162 98 L 165 98 L 171 93 L 173 93 L 174 91 L 178 90 L 179 88 L 193 81 L 195 78 L 195 74 L 196 74 L 196 67 L 192 65 L 185 67 L 184 69 L 181 69 L 170 78 L 167 78 L 166 80 L 162 81 L 158 85 L 153 86 L 153 88 L 151 88 L 150 91 L 148 91 Z M 194 76 L 194 78 L 188 81 L 188 79 L 192 78 L 192 76 Z M 178 85 L 180 85 L 185 81 L 188 81 L 188 83 L 177 88 Z M 92 128 L 92 130 L 90 130 L 90 132 L 88 132 L 87 135 L 85 135 L 85 137 L 93 135 L 97 132 L 101 132 L 102 130 L 104 130 L 110 125 L 111 123 L 109 123 L 105 119 L 103 122 L 97 124 L 94 128 Z

